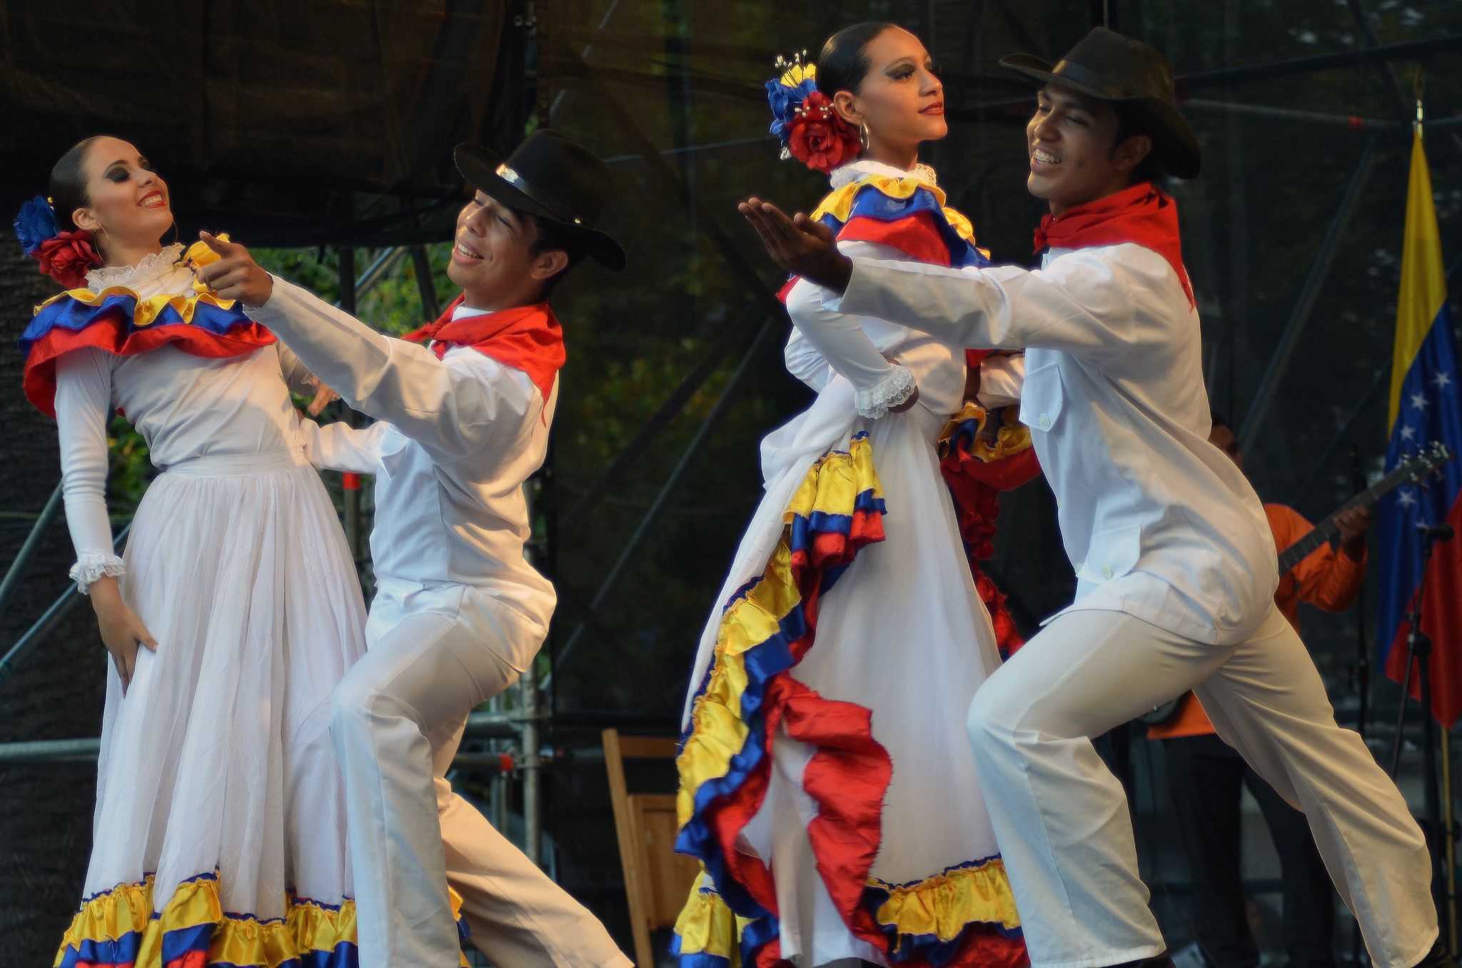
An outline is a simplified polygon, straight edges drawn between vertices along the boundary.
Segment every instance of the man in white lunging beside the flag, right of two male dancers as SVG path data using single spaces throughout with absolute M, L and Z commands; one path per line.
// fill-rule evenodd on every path
M 1127 800 L 1089 737 L 1193 687 L 1218 733 L 1308 816 L 1374 964 L 1450 968 L 1421 831 L 1335 724 L 1273 605 L 1259 499 L 1208 443 L 1175 205 L 1148 184 L 1154 164 L 1193 177 L 1200 162 L 1171 66 L 1101 28 L 1054 67 L 1001 63 L 1044 85 L 1026 126 L 1029 189 L 1051 208 L 1039 271 L 849 260 L 806 216 L 757 199 L 741 211 L 773 259 L 827 290 L 829 309 L 1026 349 L 1020 420 L 1056 491 L 1076 601 L 980 689 L 969 740 L 1031 961 L 1171 965 Z M 804 336 L 858 342 L 849 320 L 829 314 Z

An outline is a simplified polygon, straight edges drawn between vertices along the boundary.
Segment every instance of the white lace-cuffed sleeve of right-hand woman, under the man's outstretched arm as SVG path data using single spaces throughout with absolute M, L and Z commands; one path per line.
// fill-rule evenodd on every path
M 838 250 L 849 257 L 901 257 L 886 246 L 866 241 L 842 241 Z M 830 309 L 817 285 L 798 279 L 787 294 L 787 313 L 807 345 L 857 387 L 860 415 L 882 417 L 914 393 L 914 374 L 889 361 L 855 316 Z M 893 342 L 902 342 L 905 336 L 895 336 Z M 803 366 L 807 366 L 806 361 Z

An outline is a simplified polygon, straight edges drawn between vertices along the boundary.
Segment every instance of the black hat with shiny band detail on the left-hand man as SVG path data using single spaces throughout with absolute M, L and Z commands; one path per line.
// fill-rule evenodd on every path
M 624 250 L 596 228 L 613 189 L 610 168 L 588 148 L 551 127 L 518 146 L 507 161 L 481 145 L 458 145 L 458 171 L 482 194 L 535 218 L 558 222 L 607 269 L 624 268 Z

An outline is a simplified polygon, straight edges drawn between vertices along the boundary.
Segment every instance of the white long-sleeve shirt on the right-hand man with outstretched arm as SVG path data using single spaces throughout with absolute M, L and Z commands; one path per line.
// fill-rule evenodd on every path
M 1208 443 L 1197 313 L 1162 256 L 1132 243 L 1057 249 L 1034 272 L 860 257 L 844 295 L 823 300 L 956 347 L 1026 349 L 1020 421 L 1056 491 L 1072 610 L 1215 643 L 1243 640 L 1268 614 L 1268 522 Z

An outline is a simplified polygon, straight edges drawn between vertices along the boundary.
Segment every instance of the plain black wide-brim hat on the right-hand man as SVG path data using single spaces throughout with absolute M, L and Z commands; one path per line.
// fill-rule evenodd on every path
M 1197 177 L 1202 170 L 1203 152 L 1174 104 L 1173 64 L 1142 41 L 1096 26 L 1054 66 L 1034 54 L 1001 57 L 1000 66 L 1042 85 L 1139 107 L 1152 123 L 1152 149 L 1162 170 L 1177 178 Z

